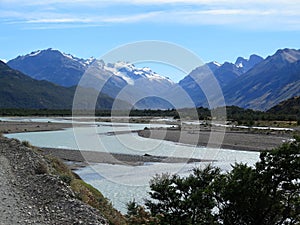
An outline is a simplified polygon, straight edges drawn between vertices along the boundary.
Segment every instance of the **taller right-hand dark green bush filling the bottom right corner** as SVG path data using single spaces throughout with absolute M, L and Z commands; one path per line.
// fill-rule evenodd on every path
M 300 224 L 300 144 L 260 154 L 255 167 L 236 164 L 215 183 L 224 225 Z

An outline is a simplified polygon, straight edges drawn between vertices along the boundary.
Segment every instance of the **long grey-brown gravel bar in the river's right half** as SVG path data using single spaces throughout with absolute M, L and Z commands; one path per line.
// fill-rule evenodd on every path
M 223 136 L 222 143 L 209 143 L 211 129 L 199 129 L 190 126 L 187 129 L 144 129 L 138 132 L 140 137 L 180 142 L 194 146 L 220 147 L 223 149 L 264 151 L 282 145 L 293 137 L 290 131 L 268 131 L 239 129 L 236 131 L 226 128 L 213 128 L 213 135 Z

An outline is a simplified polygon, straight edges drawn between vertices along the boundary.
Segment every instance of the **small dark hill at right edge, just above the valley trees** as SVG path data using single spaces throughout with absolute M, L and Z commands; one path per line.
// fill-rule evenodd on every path
M 297 115 L 298 118 L 300 118 L 300 96 L 282 101 L 267 112 L 274 114 Z

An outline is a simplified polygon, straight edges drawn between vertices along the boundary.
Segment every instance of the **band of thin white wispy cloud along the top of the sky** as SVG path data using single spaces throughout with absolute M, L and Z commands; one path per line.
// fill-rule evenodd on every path
M 2 21 L 28 29 L 153 22 L 300 30 L 300 0 L 0 0 L 0 6 Z

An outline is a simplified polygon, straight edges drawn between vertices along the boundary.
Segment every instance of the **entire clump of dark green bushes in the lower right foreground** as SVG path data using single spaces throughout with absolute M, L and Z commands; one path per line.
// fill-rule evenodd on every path
M 128 204 L 130 224 L 299 225 L 300 138 L 260 154 L 255 166 L 235 164 L 227 173 L 208 166 L 188 177 L 158 175 L 150 182 L 145 211 Z M 136 220 L 134 220 L 136 219 Z

